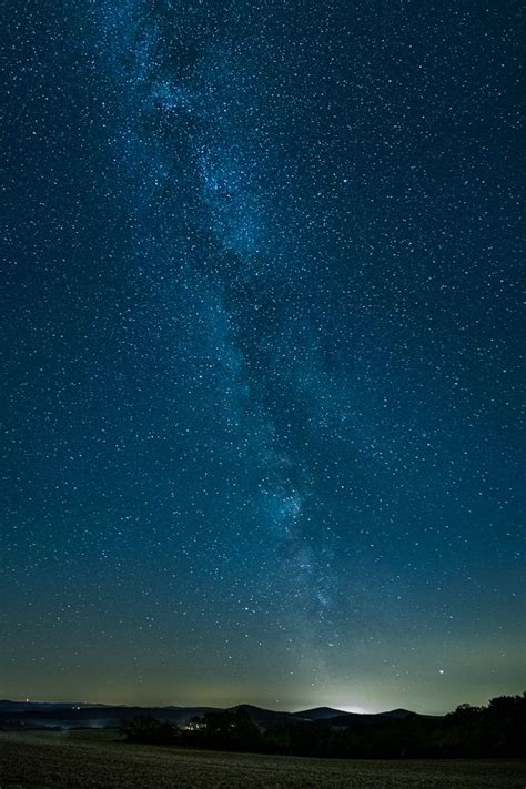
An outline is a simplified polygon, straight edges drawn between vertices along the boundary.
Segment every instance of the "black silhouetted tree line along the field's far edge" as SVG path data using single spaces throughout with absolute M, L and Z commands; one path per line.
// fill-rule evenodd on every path
M 526 756 L 526 694 L 484 707 L 464 704 L 442 718 L 408 715 L 374 724 L 284 721 L 259 727 L 243 709 L 216 710 L 188 727 L 142 715 L 124 721 L 130 742 L 340 758 L 487 758 Z

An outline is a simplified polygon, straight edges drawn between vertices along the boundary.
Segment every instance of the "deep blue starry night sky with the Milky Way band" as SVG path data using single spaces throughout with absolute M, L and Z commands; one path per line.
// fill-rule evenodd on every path
M 510 0 L 0 26 L 0 695 L 520 692 Z

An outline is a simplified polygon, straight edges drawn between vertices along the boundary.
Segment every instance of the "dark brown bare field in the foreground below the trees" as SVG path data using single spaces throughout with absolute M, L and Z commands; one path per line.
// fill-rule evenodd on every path
M 524 789 L 520 761 L 362 761 L 128 745 L 112 731 L 0 732 L 2 789 Z

